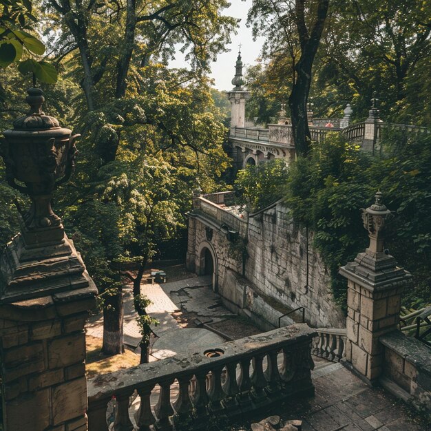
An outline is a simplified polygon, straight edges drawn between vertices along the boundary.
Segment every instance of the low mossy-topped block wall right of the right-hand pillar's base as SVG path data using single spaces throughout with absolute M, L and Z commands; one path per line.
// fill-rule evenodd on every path
M 405 401 L 431 413 L 430 348 L 398 330 L 383 335 L 380 342 L 384 346 L 383 376 L 407 393 Z

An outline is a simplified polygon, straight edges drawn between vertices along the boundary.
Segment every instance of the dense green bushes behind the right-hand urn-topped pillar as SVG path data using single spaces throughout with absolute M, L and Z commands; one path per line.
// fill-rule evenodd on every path
M 339 266 L 368 244 L 359 208 L 368 207 L 377 190 L 397 217 L 388 224 L 386 247 L 414 275 L 406 304 L 431 293 L 431 136 L 406 139 L 393 132 L 383 138 L 383 156 L 372 158 L 333 134 L 313 145 L 289 171 L 286 204 L 293 218 L 315 232 L 313 242 L 330 269 L 333 291 L 345 305 L 346 280 Z M 428 299 L 426 299 L 428 298 Z

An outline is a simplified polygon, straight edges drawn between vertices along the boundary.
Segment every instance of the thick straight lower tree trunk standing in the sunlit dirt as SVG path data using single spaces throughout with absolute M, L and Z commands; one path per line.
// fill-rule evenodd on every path
M 103 306 L 103 346 L 105 355 L 124 353 L 123 346 L 123 295 L 118 293 L 105 297 Z

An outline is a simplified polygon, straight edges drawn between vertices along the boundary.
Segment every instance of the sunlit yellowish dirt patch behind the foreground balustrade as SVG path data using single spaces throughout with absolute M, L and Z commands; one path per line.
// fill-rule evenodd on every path
M 99 374 L 106 374 L 117 370 L 139 365 L 140 356 L 131 350 L 125 349 L 122 355 L 105 356 L 102 353 L 103 341 L 101 338 L 87 335 L 85 337 L 87 344 L 87 360 L 85 361 L 85 372 L 87 378 L 95 377 Z

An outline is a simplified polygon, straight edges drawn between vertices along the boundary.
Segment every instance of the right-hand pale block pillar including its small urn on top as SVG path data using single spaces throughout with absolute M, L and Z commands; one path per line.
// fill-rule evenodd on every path
M 360 377 L 373 383 L 381 374 L 383 346 L 379 337 L 397 329 L 401 292 L 411 280 L 383 248 L 383 230 L 390 211 L 377 192 L 375 204 L 362 210 L 370 246 L 354 262 L 342 266 L 348 280 L 346 361 Z

